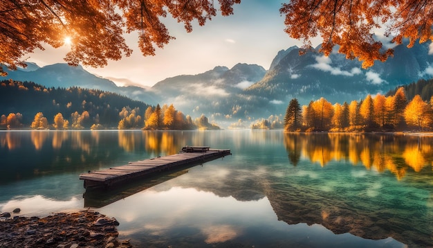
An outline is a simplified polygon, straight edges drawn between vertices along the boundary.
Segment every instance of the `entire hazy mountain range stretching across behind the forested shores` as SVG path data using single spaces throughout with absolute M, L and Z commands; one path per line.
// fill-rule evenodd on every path
M 196 75 L 181 75 L 157 82 L 151 89 L 137 86 L 118 87 L 113 81 L 95 76 L 82 67 L 53 64 L 8 71 L 5 79 L 33 81 L 46 87 L 83 87 L 101 89 L 133 100 L 156 105 L 174 104 L 193 118 L 205 114 L 223 127 L 258 118 L 284 114 L 289 101 L 297 98 L 301 105 L 324 97 L 331 103 L 360 100 L 367 94 L 385 94 L 433 75 L 430 43 L 394 48 L 394 57 L 375 62 L 362 69 L 358 60 L 347 60 L 337 52 L 325 57 L 319 47 L 300 55 L 292 46 L 279 51 L 268 71 L 257 64 L 217 66 Z M 247 123 L 249 122 L 249 123 Z

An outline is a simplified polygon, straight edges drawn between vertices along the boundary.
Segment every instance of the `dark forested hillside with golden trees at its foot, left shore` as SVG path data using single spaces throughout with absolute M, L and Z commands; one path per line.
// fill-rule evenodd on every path
M 173 105 L 150 106 L 98 89 L 46 88 L 0 81 L 1 129 L 219 129 L 204 115 L 194 121 Z

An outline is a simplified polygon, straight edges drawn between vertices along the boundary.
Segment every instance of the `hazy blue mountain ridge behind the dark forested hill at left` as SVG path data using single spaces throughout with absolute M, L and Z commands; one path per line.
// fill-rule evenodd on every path
M 2 80 L 13 79 L 21 82 L 36 82 L 44 87 L 81 87 L 84 89 L 100 89 L 110 91 L 133 100 L 141 100 L 145 103 L 156 105 L 154 94 L 141 87 L 118 87 L 113 81 L 97 77 L 81 66 L 71 67 L 68 64 L 50 64 L 46 67 L 38 67 L 37 64 L 28 63 L 25 69 L 18 68 L 16 71 L 8 71 L 8 76 Z

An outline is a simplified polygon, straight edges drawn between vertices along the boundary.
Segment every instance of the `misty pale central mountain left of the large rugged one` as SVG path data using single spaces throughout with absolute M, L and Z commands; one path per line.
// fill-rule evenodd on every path
M 229 122 L 249 116 L 250 107 L 257 107 L 256 96 L 244 96 L 243 89 L 261 80 L 266 70 L 257 64 L 236 64 L 215 67 L 197 75 L 167 78 L 152 87 L 161 103 L 173 103 L 176 109 L 193 117 L 205 114 L 212 120 Z M 257 107 L 252 114 L 264 114 Z M 264 111 L 264 112 L 261 112 Z M 220 125 L 220 123 L 219 123 Z

